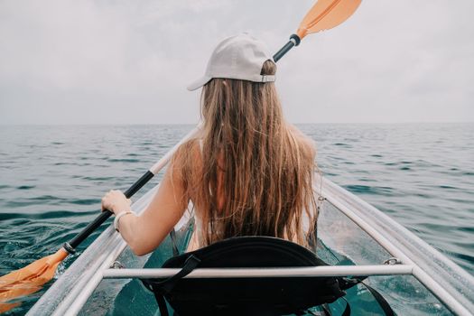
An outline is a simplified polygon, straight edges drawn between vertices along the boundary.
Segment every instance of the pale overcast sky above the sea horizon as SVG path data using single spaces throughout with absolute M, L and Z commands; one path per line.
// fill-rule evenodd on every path
M 216 44 L 273 54 L 311 0 L 1 0 L 0 124 L 196 123 Z M 474 1 L 363 0 L 278 62 L 293 123 L 474 121 Z

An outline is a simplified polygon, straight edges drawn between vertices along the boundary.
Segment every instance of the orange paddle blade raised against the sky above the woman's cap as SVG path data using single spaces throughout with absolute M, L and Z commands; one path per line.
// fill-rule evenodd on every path
M 362 0 L 318 0 L 304 16 L 296 34 L 302 39 L 310 33 L 329 30 L 346 21 Z

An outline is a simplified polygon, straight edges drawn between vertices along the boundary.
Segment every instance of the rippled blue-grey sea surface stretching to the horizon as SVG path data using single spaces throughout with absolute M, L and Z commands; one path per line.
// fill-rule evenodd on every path
M 474 274 L 474 124 L 298 126 L 325 176 Z M 191 128 L 0 126 L 0 274 L 55 252 Z

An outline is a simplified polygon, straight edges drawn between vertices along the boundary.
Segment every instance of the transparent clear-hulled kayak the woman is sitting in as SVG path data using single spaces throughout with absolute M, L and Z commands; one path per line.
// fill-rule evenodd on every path
M 320 177 L 319 177 L 320 178 Z M 137 200 L 140 213 L 158 186 Z M 367 283 L 386 298 L 398 315 L 472 315 L 474 277 L 394 219 L 325 178 L 314 190 L 321 196 L 317 255 L 330 267 L 314 267 L 307 275 L 369 275 Z M 185 251 L 191 237 L 190 212 L 176 225 L 175 243 Z M 60 274 L 28 315 L 158 315 L 153 294 L 138 277 L 176 273 L 160 269 L 172 256 L 172 240 L 165 239 L 153 254 L 135 256 L 113 227 L 107 228 Z M 194 277 L 228 277 L 225 269 L 196 270 Z M 268 274 L 262 269 L 238 269 L 239 274 Z M 274 272 L 273 272 L 274 273 Z M 282 268 L 278 274 L 301 274 Z M 190 274 L 190 276 L 191 276 Z M 231 276 L 231 275 L 230 275 Z M 378 307 L 367 290 L 354 287 L 346 295 L 354 315 L 378 315 Z M 339 302 L 341 301 L 341 302 Z M 330 304 L 335 314 L 345 302 Z

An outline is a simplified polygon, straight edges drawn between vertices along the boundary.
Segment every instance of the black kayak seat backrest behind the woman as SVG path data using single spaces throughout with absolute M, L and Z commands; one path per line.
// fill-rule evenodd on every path
M 160 312 L 174 315 L 303 314 L 334 302 L 359 283 L 343 277 L 183 278 L 196 268 L 271 268 L 327 265 L 309 249 L 276 237 L 232 237 L 173 256 L 163 268 L 181 268 L 167 279 L 142 279 Z M 375 290 L 374 290 L 375 291 Z M 166 302 L 165 302 L 166 301 Z M 328 308 L 323 310 L 329 313 Z M 311 311 L 310 311 L 311 312 Z M 349 305 L 343 315 L 349 315 Z M 390 313 L 386 313 L 389 314 Z

